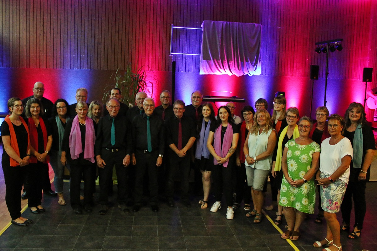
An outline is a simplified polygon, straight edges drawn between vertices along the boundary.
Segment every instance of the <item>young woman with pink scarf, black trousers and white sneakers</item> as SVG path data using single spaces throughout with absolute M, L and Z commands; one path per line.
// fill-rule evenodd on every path
M 211 124 L 208 134 L 207 148 L 213 156 L 213 189 L 216 202 L 211 207 L 211 212 L 221 208 L 221 196 L 224 188 L 227 203 L 227 219 L 233 219 L 233 187 L 232 169 L 235 164 L 234 152 L 237 148 L 239 129 L 234 125 L 227 106 L 220 106 L 216 123 Z M 222 185 L 222 186 L 221 186 Z

